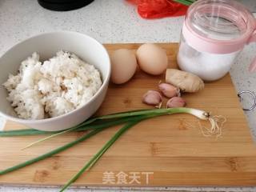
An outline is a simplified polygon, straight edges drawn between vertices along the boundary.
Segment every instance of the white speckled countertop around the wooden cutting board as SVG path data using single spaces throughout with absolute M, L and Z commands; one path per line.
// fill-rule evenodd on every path
M 54 30 L 74 30 L 88 34 L 102 43 L 114 42 L 178 42 L 183 17 L 146 20 L 140 18 L 134 6 L 124 0 L 95 0 L 79 10 L 55 12 L 45 10 L 36 0 L 0 1 L 0 55 L 11 46 L 35 34 Z M 256 43 L 246 46 L 230 74 L 237 90 L 256 92 L 256 74 L 247 68 L 256 56 Z M 243 101 L 246 105 L 248 101 Z M 251 132 L 256 140 L 256 109 L 246 112 Z M 0 118 L 0 125 L 4 119 Z M 119 190 L 139 190 L 117 188 Z M 147 188 L 150 191 L 256 191 L 250 188 Z M 58 191 L 54 187 L 0 186 L 0 191 Z M 83 188 L 67 191 L 114 191 L 114 189 Z

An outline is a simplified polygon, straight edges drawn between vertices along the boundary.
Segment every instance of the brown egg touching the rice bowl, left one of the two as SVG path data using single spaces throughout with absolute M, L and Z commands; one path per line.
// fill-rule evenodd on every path
M 111 81 L 115 84 L 128 82 L 134 76 L 138 66 L 135 54 L 131 50 L 115 50 L 110 55 Z

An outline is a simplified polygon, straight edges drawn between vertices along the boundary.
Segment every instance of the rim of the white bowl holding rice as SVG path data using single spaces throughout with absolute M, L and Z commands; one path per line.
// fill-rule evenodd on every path
M 34 35 L 34 36 L 31 36 L 30 38 L 26 38 L 24 40 L 22 40 L 22 42 L 18 42 L 16 43 L 14 46 L 11 46 L 10 49 L 6 50 L 4 54 L 2 54 L 0 56 L 0 59 L 5 55 L 7 54 L 8 52 L 10 52 L 15 46 L 18 46 L 18 45 L 21 45 L 22 43 L 26 42 L 26 41 L 29 41 L 30 39 L 32 38 L 38 38 L 40 36 L 44 36 L 44 35 L 49 35 L 49 34 L 75 34 L 75 35 L 81 35 L 81 36 L 84 36 L 86 38 L 89 38 L 90 40 L 92 40 L 93 42 L 95 42 L 96 44 L 98 44 L 99 47 L 102 48 L 102 50 L 104 51 L 104 54 L 106 54 L 106 58 L 107 58 L 107 62 L 106 64 L 108 63 L 108 71 L 106 72 L 106 78 L 104 79 L 103 83 L 102 83 L 102 86 L 98 89 L 98 91 L 96 92 L 96 94 L 94 94 L 94 96 L 92 98 L 90 98 L 84 105 L 78 107 L 77 109 L 75 110 L 71 110 L 70 112 L 66 113 L 66 114 L 62 114 L 62 115 L 59 115 L 57 117 L 54 117 L 54 118 L 43 118 L 43 119 L 23 119 L 23 118 L 15 118 L 14 116 L 11 116 L 9 114 L 6 114 L 4 112 L 2 112 L 0 110 L 0 114 L 4 117 L 4 118 L 7 118 L 7 119 L 10 119 L 11 121 L 14 121 L 14 122 L 21 122 L 21 123 L 31 123 L 31 124 L 41 124 L 41 123 L 44 123 L 44 122 L 52 122 L 52 121 L 55 121 L 55 120 L 59 120 L 61 118 L 67 118 L 70 114 L 75 114 L 78 112 L 78 110 L 81 110 L 83 107 L 87 106 L 90 102 L 94 102 L 94 100 L 98 97 L 99 94 L 102 93 L 102 90 L 104 89 L 105 86 L 108 86 L 108 82 L 110 81 L 110 74 L 111 74 L 111 63 L 110 63 L 110 55 L 108 54 L 105 46 L 102 45 L 102 43 L 98 42 L 95 38 L 92 38 L 90 37 L 89 35 L 87 34 L 83 34 L 83 33 L 80 33 L 80 32 L 77 32 L 77 31 L 70 31 L 70 30 L 58 30 L 58 31 L 52 31 L 52 32 L 46 32 L 46 33 L 41 33 L 41 34 L 37 34 L 37 35 Z M 100 71 L 101 72 L 101 71 Z

